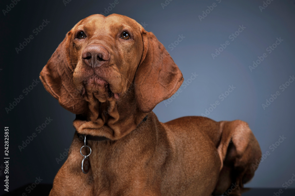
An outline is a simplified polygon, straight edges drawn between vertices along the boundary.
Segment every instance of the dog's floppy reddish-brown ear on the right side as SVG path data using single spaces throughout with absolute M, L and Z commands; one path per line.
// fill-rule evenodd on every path
M 138 108 L 148 113 L 171 97 L 183 82 L 182 73 L 152 32 L 142 32 L 143 54 L 135 74 Z

